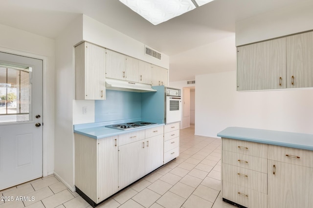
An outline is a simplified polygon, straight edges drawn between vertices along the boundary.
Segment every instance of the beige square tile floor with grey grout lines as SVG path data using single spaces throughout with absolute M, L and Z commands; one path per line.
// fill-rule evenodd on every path
M 97 208 L 235 208 L 221 198 L 221 139 L 180 130 L 180 155 L 174 161 L 116 194 Z M 54 175 L 0 190 L 0 208 L 91 208 Z M 34 197 L 34 201 L 31 200 Z

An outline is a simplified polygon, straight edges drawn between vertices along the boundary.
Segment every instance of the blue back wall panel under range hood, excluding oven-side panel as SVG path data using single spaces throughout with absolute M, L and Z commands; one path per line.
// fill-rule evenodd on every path
M 106 100 L 95 100 L 95 122 L 141 117 L 140 93 L 106 90 Z

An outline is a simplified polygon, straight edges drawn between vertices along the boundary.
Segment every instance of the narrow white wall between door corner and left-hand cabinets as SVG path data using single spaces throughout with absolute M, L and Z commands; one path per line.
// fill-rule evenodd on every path
M 56 38 L 54 172 L 72 191 L 75 190 L 73 137 L 74 45 L 82 39 L 82 16 L 74 20 Z

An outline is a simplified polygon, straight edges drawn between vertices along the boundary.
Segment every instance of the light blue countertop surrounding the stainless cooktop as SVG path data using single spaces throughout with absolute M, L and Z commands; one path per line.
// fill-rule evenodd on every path
M 120 129 L 112 129 L 107 128 L 105 126 L 110 125 L 107 122 L 96 122 L 96 123 L 88 123 L 88 124 L 77 124 L 74 125 L 74 133 L 82 134 L 84 136 L 88 136 L 94 139 L 102 139 L 109 136 L 116 136 L 123 133 L 129 133 L 149 128 L 154 128 L 157 126 L 164 126 L 164 124 L 154 124 L 140 128 L 134 128 L 132 130 L 120 130 Z

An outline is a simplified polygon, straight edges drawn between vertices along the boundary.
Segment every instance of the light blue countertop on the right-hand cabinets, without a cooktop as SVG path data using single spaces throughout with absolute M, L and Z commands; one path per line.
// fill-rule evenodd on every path
M 228 127 L 220 137 L 313 151 L 313 134 Z

